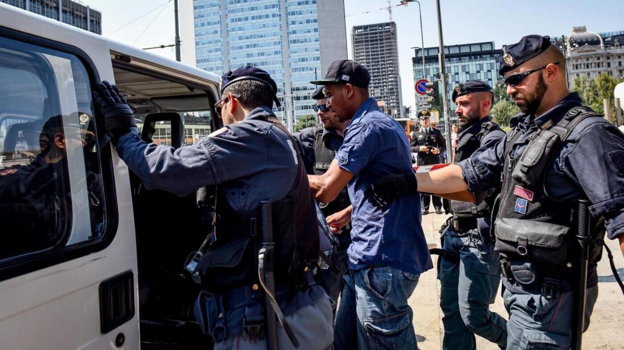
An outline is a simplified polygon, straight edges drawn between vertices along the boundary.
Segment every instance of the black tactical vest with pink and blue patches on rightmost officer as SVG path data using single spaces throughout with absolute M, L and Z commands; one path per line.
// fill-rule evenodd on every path
M 591 116 L 600 115 L 588 107 L 578 106 L 568 111 L 557 125 L 548 121 L 529 137 L 529 144 L 514 159 L 510 158 L 510 153 L 522 131 L 516 127 L 508 134 L 503 184 L 494 205 L 496 220 L 492 231 L 496 236 L 495 250 L 510 260 L 572 266 L 573 245 L 570 243 L 575 233 L 573 214 L 577 202 L 558 201 L 549 196 L 544 176 L 563 141 L 580 121 Z M 602 217 L 593 219 L 593 238 L 604 237 L 602 223 Z M 595 243 L 590 245 L 590 262 L 600 260 L 601 248 Z

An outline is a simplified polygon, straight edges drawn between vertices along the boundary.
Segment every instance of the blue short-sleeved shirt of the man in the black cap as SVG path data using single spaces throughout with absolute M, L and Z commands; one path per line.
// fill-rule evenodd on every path
M 421 227 L 417 193 L 401 196 L 381 208 L 364 196 L 371 182 L 388 174 L 414 173 L 407 135 L 396 120 L 368 98 L 344 130 L 338 165 L 354 174 L 348 192 L 351 213 L 349 267 L 358 270 L 384 265 L 409 273 L 433 267 Z

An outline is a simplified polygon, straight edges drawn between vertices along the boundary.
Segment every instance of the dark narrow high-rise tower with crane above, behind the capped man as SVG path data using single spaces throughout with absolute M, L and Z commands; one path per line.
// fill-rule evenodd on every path
M 353 60 L 371 73 L 371 96 L 383 101 L 392 118 L 402 117 L 399 54 L 394 22 L 355 26 L 351 31 Z

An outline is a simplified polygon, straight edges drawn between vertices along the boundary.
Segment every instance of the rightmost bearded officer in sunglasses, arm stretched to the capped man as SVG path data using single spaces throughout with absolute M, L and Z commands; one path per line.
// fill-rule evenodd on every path
M 572 292 L 581 265 L 574 234 L 585 212 L 577 201 L 588 199 L 592 219 L 583 330 L 598 294 L 605 228 L 624 253 L 624 135 L 568 93 L 565 59 L 548 37 L 527 35 L 507 46 L 499 74 L 520 108 L 503 141 L 445 169 L 379 179 L 372 191 L 389 200 L 417 179 L 421 191 L 457 194 L 502 179 L 493 230 L 510 313 L 507 349 L 568 349 L 581 314 L 573 309 L 582 296 Z

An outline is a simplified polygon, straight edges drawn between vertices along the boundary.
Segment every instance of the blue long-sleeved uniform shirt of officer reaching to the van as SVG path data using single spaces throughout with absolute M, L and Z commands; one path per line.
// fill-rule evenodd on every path
M 146 189 L 163 189 L 185 196 L 200 187 L 222 184 L 227 201 L 235 210 L 250 210 L 261 201 L 279 201 L 295 182 L 298 158 L 292 141 L 275 125 L 258 120 L 273 115 L 270 108 L 252 110 L 240 123 L 225 126 L 178 149 L 147 144 L 139 134 L 129 133 L 117 143 L 117 153 Z M 217 237 L 218 239 L 218 237 Z M 183 262 L 180 262 L 183 263 Z M 311 305 L 324 295 L 314 285 L 295 298 L 280 303 L 284 315 Z M 228 333 L 236 334 L 244 308 L 228 311 Z M 230 329 L 232 327 L 232 329 Z

